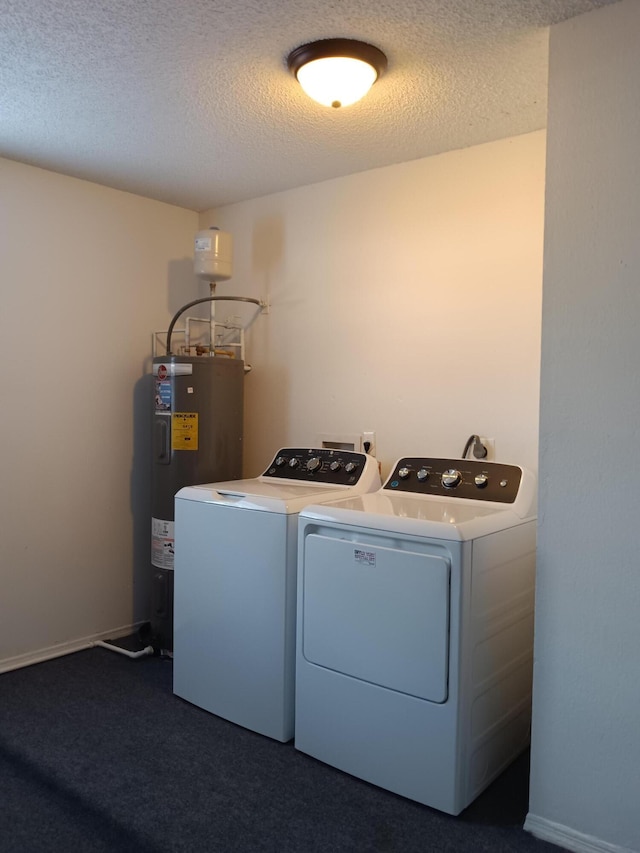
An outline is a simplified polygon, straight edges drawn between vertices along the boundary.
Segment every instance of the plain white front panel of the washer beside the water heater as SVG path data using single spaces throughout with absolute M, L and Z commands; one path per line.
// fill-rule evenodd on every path
M 176 500 L 174 693 L 293 737 L 297 516 Z

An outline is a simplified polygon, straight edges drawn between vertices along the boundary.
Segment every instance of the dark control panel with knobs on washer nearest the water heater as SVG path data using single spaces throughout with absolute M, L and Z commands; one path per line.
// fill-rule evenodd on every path
M 353 486 L 362 476 L 367 464 L 371 463 L 372 459 L 366 453 L 353 450 L 285 447 L 276 453 L 262 476 L 278 480 Z

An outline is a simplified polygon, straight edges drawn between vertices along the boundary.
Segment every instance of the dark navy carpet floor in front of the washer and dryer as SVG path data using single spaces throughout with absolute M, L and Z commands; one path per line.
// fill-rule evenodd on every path
M 166 659 L 0 675 L 2 853 L 558 853 L 522 829 L 527 778 L 453 818 L 176 698 Z

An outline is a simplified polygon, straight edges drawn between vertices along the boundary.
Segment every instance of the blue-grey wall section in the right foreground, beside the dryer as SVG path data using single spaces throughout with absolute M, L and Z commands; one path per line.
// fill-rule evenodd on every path
M 640 850 L 640 4 L 552 28 L 530 814 Z

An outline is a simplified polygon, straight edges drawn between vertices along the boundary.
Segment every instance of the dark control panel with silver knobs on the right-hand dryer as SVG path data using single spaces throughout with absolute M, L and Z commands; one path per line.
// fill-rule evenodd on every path
M 521 480 L 522 469 L 517 465 L 408 456 L 396 462 L 384 488 L 392 492 L 513 503 Z

